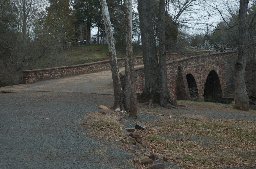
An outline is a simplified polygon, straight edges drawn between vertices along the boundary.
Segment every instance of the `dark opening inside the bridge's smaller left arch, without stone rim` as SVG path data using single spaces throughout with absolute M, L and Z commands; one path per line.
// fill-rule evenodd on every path
M 189 95 L 190 99 L 193 101 L 198 101 L 198 89 L 196 85 L 196 80 L 192 74 L 187 74 L 187 83 L 188 83 L 188 89 L 189 89 Z

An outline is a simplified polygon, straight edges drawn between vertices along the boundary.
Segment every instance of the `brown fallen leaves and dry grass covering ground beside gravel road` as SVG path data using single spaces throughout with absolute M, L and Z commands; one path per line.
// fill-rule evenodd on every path
M 125 116 L 125 114 L 116 114 Z M 246 167 L 256 164 L 256 122 L 250 120 L 209 119 L 202 115 L 157 116 L 153 122 L 133 121 L 146 125 L 146 130 L 135 130 L 143 138 L 147 152 L 161 154 L 168 161 L 186 168 Z M 95 137 L 127 145 L 123 126 L 103 122 L 100 112 L 86 113 L 81 122 L 90 127 Z M 122 119 L 125 121 L 125 119 Z M 137 164 L 134 166 L 145 168 Z

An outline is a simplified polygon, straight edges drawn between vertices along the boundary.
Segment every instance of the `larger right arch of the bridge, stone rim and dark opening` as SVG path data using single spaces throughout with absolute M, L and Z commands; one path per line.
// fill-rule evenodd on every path
M 216 66 L 212 65 L 208 68 L 204 82 L 204 101 L 221 102 L 223 89 L 219 71 Z

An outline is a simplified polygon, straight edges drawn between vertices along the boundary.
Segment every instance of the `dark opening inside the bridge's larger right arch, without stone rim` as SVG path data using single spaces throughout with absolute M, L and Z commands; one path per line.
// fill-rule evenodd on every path
M 222 102 L 221 85 L 218 74 L 212 70 L 209 72 L 204 90 L 205 102 Z

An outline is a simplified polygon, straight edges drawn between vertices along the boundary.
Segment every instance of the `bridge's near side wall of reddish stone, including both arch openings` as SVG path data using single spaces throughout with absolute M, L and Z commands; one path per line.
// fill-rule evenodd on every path
M 236 52 L 199 54 L 166 62 L 167 87 L 176 99 L 230 102 Z M 137 90 L 144 89 L 144 67 L 135 69 Z M 121 72 L 124 75 L 124 72 Z

